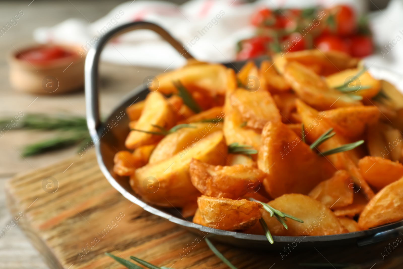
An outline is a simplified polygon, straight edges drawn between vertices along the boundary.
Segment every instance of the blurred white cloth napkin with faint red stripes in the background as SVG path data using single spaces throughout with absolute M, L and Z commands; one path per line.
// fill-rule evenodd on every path
M 390 19 L 401 21 L 403 17 L 399 17 L 398 13 L 403 11 L 403 5 L 401 1 L 393 2 L 399 2 L 400 10 L 385 13 L 387 12 Z M 54 27 L 37 28 L 33 36 L 40 43 L 62 42 L 83 45 L 81 53 L 85 54 L 91 43 L 94 44 L 102 33 L 118 25 L 142 20 L 162 26 L 198 60 L 229 62 L 235 60 L 237 42 L 255 34 L 255 29 L 249 21 L 253 12 L 259 7 L 266 6 L 271 9 L 315 5 L 328 7 L 343 3 L 352 5 L 359 14 L 366 11 L 366 2 L 363 0 L 258 0 L 254 3 L 244 3 L 242 0 L 190 0 L 180 6 L 169 1 L 135 0 L 116 6 L 98 21 L 89 23 L 85 19 L 68 19 Z M 382 16 L 374 16 L 374 21 L 382 19 Z M 387 22 L 383 20 L 382 23 Z M 382 29 L 383 32 L 380 30 L 375 32 L 382 33 L 384 41 L 389 40 L 386 32 L 391 29 L 392 27 L 388 27 L 387 31 Z M 403 46 L 403 41 L 400 46 Z M 403 54 L 403 51 L 398 49 L 392 52 Z M 177 68 L 185 63 L 185 59 L 174 48 L 156 33 L 148 30 L 137 30 L 120 36 L 104 48 L 101 57 L 102 60 L 112 63 L 162 69 Z

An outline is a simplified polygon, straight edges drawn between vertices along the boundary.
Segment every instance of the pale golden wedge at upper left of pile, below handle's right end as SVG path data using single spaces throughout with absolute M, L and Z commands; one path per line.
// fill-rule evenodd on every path
M 180 80 L 181 83 L 191 92 L 204 90 L 210 96 L 225 94 L 228 83 L 227 68 L 220 64 L 185 65 L 174 71 L 162 73 L 157 76 L 158 83 L 150 87 L 151 91 L 158 90 L 164 94 L 175 94 L 177 88 L 173 81 Z

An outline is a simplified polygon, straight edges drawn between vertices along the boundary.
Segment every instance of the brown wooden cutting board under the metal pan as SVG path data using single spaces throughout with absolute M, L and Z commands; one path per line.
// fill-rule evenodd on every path
M 137 256 L 157 266 L 175 269 L 226 269 L 204 240 L 189 246 L 198 234 L 144 211 L 117 192 L 98 168 L 95 155 L 71 158 L 51 167 L 18 175 L 6 194 L 18 226 L 51 269 L 124 268 L 104 252 L 129 260 Z M 22 216 L 22 217 L 21 217 Z M 403 238 L 403 236 L 402 236 Z M 398 268 L 403 244 L 390 250 L 389 240 L 365 248 L 294 249 L 280 253 L 243 250 L 214 243 L 237 268 Z M 305 263 L 305 265 L 304 265 Z M 322 267 L 306 263 L 323 263 Z M 375 264 L 375 265 L 374 265 Z M 304 265 L 301 267 L 301 265 Z M 401 268 L 401 267 L 400 267 Z

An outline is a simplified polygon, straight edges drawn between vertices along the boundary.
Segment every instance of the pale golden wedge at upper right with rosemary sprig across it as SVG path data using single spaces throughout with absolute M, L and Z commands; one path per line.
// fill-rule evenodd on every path
M 374 79 L 369 72 L 364 72 L 359 77 L 356 77 L 360 71 L 361 69 L 353 68 L 334 73 L 326 77 L 326 83 L 329 88 L 336 88 L 349 82 L 347 89 L 351 89 L 351 94 L 359 95 L 364 98 L 376 96 L 381 89 L 381 82 L 378 79 Z M 358 90 L 360 86 L 363 88 Z M 364 86 L 370 88 L 364 89 Z

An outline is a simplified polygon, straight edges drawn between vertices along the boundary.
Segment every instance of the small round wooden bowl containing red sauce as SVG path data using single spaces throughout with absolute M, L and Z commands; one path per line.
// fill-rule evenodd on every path
M 77 51 L 81 48 L 77 46 L 57 44 L 74 54 L 50 60 L 46 64 L 30 63 L 18 57 L 27 50 L 52 45 L 34 45 L 8 53 L 9 79 L 13 88 L 31 94 L 62 94 L 83 88 L 85 57 L 79 55 Z

